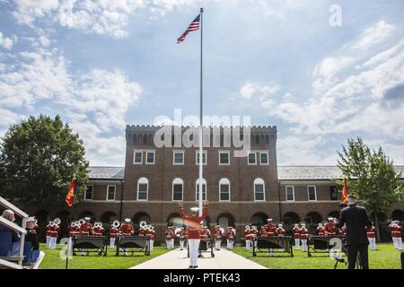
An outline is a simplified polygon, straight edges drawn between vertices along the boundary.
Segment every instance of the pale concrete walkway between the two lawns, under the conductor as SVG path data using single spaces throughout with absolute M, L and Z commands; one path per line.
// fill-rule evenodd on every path
M 215 251 L 214 258 L 209 252 L 202 255 L 203 258 L 198 258 L 198 269 L 267 269 L 225 249 Z M 130 269 L 188 269 L 188 266 L 187 250 L 174 249 Z

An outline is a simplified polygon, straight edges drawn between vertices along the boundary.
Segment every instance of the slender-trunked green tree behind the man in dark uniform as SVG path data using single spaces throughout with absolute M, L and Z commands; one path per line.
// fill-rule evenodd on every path
M 391 205 L 399 201 L 404 188 L 400 185 L 400 172 L 396 172 L 393 161 L 379 147 L 374 151 L 366 146 L 361 138 L 348 138 L 347 148 L 338 152 L 338 168 L 349 180 L 349 194 L 374 214 L 378 230 L 378 214 L 385 213 Z M 380 232 L 377 232 L 380 240 Z

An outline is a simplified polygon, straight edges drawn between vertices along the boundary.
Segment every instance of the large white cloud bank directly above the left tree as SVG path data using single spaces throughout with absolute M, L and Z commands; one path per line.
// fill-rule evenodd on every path
M 32 114 L 51 105 L 83 138 L 92 164 L 122 164 L 125 138 L 117 131 L 123 133 L 127 110 L 136 106 L 142 87 L 119 70 L 72 73 L 57 48 L 32 47 L 14 56 L 15 65 L 0 69 L 0 128 L 22 118 L 16 110 Z

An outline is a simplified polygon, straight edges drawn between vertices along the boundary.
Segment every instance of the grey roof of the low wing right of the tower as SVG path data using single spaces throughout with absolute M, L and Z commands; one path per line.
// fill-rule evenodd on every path
M 401 178 L 404 178 L 404 166 L 398 165 L 396 170 L 401 172 Z M 337 166 L 278 166 L 277 178 L 279 180 L 332 179 L 342 178 L 342 173 Z

